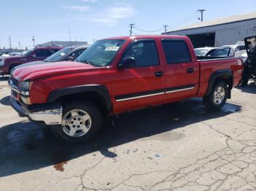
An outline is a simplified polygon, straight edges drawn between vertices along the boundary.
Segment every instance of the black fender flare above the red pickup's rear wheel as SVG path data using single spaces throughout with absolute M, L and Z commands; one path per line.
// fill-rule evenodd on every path
M 211 93 L 211 89 L 214 86 L 214 82 L 216 82 L 216 79 L 219 77 L 232 77 L 232 82 L 231 82 L 231 85 L 229 85 L 228 87 L 229 91 L 227 95 L 227 98 L 231 98 L 231 90 L 233 88 L 233 82 L 234 82 L 233 71 L 231 69 L 218 70 L 218 71 L 214 71 L 214 73 L 211 74 L 205 96 Z

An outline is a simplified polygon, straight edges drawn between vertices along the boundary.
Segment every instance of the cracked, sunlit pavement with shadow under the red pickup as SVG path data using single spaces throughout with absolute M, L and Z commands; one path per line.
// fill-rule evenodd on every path
M 256 190 L 256 86 L 219 112 L 199 98 L 119 114 L 85 143 L 57 141 L 9 105 L 0 79 L 0 190 Z

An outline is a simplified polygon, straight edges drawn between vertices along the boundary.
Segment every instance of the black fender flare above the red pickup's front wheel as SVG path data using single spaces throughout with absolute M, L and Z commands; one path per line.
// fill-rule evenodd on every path
M 105 101 L 107 106 L 107 111 L 110 112 L 112 110 L 112 101 L 110 97 L 110 93 L 108 92 L 108 88 L 105 85 L 79 85 L 79 86 L 72 86 L 72 87 L 64 87 L 59 90 L 53 90 L 49 95 L 47 102 L 55 102 L 59 98 L 65 95 L 72 95 L 75 93 L 99 93 Z

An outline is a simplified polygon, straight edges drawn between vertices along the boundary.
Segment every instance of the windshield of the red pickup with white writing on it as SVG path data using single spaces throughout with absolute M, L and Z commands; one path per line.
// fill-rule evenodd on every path
M 123 44 L 124 40 L 121 39 L 99 40 L 78 56 L 77 61 L 95 66 L 107 66 Z

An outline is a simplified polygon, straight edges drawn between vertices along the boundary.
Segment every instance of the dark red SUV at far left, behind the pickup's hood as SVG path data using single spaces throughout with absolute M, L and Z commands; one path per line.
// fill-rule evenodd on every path
M 0 61 L 0 75 L 10 74 L 15 66 L 33 61 L 42 61 L 63 47 L 35 47 L 28 50 L 23 55 L 2 58 Z

